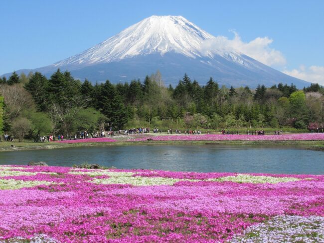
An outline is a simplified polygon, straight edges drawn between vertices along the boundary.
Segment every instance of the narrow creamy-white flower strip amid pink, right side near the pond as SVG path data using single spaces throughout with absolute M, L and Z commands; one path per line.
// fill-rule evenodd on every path
M 236 183 L 280 183 L 280 182 L 296 182 L 301 179 L 295 177 L 272 177 L 272 176 L 251 176 L 251 175 L 242 175 L 239 174 L 237 176 L 226 176 L 215 179 L 208 179 L 208 181 L 231 181 Z

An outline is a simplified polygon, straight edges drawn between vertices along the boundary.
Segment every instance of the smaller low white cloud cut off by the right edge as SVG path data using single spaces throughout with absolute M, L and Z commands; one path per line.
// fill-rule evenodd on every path
M 298 69 L 284 70 L 283 72 L 296 78 L 324 85 L 324 66 L 305 67 L 301 65 Z

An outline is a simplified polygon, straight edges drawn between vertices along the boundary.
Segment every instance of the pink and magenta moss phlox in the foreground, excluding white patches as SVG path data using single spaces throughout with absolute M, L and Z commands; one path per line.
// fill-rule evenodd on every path
M 70 168 L 28 167 L 26 171 L 38 174 L 6 179 L 52 184 L 0 191 L 1 239 L 44 234 L 67 243 L 226 242 L 274 216 L 324 216 L 324 176 L 250 174 L 301 179 L 254 184 L 208 181 L 237 173 L 109 170 L 184 180 L 174 185 L 132 186 L 91 183 L 109 177 L 74 175 Z

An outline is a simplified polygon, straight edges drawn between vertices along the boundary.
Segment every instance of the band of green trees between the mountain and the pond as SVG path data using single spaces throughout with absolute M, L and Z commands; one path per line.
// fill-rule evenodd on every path
M 200 80 L 202 81 L 202 80 Z M 159 71 L 143 81 L 81 82 L 57 70 L 0 77 L 0 130 L 21 141 L 49 134 L 150 127 L 172 129 L 282 129 L 323 131 L 324 88 L 312 83 L 257 88 L 205 85 L 184 74 L 165 86 Z

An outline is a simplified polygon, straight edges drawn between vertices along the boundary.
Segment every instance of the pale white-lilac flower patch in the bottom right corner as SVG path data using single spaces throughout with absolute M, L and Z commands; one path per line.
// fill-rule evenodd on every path
M 324 242 L 324 217 L 276 216 L 267 223 L 251 226 L 231 243 Z

